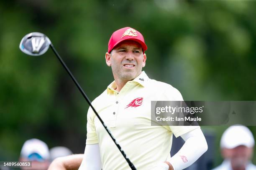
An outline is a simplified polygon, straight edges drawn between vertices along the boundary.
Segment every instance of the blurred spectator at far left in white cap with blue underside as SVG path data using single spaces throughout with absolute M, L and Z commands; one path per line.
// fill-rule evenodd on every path
M 20 162 L 31 161 L 32 167 L 20 167 L 21 170 L 47 170 L 50 164 L 49 148 L 41 140 L 27 140 L 20 152 Z

